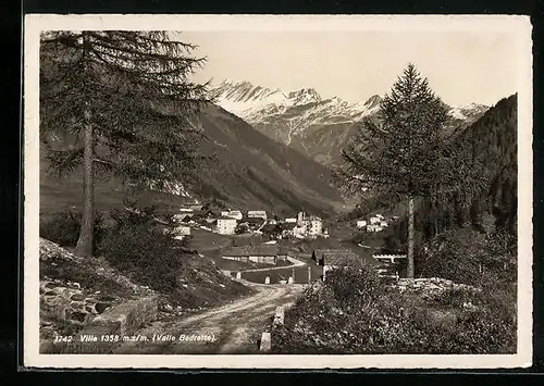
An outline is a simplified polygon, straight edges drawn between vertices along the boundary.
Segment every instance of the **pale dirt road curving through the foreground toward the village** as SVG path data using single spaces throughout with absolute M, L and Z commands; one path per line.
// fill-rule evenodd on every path
M 114 353 L 258 353 L 275 309 L 292 303 L 302 285 L 244 284 L 258 292 L 180 321 L 156 322 L 136 333 L 147 341 L 125 341 Z

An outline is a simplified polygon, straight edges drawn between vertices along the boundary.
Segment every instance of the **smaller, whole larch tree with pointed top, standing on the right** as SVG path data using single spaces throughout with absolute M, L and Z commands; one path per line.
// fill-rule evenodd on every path
M 415 199 L 446 200 L 463 194 L 470 175 L 459 149 L 443 129 L 448 110 L 413 64 L 381 102 L 378 120 L 367 120 L 343 150 L 341 182 L 348 191 L 396 194 L 408 202 L 407 276 L 413 278 Z

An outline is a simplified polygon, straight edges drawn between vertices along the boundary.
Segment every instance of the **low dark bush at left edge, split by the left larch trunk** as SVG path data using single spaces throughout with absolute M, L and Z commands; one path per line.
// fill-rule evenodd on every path
M 57 242 L 61 247 L 75 247 L 79 239 L 82 213 L 75 211 L 57 212 L 50 215 L 40 215 L 39 236 Z M 100 212 L 95 214 L 94 250 L 103 237 L 104 224 Z

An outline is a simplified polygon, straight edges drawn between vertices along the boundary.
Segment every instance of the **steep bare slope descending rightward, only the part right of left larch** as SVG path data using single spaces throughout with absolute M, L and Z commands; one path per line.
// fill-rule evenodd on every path
M 307 209 L 342 209 L 331 172 L 299 152 L 271 140 L 234 114 L 209 105 L 201 115 L 208 140 L 202 151 L 217 161 L 202 170 L 200 192 L 240 209 L 287 214 Z

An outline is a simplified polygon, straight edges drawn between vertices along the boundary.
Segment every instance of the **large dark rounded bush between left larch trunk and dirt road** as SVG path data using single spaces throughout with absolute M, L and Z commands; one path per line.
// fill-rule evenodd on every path
M 115 226 L 100 245 L 104 258 L 135 282 L 158 291 L 177 289 L 184 254 L 183 241 L 158 224 L 150 210 L 140 213 L 113 211 Z

